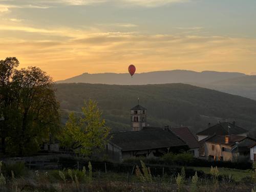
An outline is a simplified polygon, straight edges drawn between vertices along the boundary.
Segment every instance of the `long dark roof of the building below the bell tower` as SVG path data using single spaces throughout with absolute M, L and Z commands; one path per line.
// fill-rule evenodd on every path
M 122 151 L 151 150 L 155 148 L 187 146 L 171 131 L 148 130 L 120 132 L 109 135 L 110 143 Z

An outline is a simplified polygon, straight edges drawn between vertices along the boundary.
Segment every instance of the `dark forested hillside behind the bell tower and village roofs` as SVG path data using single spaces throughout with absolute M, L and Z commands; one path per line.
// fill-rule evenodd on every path
M 98 101 L 113 132 L 130 130 L 130 109 L 140 104 L 148 110 L 150 126 L 189 126 L 194 132 L 218 120 L 256 127 L 256 101 L 182 83 L 145 86 L 106 84 L 55 84 L 62 109 L 62 122 L 69 111 L 81 111 L 84 100 Z

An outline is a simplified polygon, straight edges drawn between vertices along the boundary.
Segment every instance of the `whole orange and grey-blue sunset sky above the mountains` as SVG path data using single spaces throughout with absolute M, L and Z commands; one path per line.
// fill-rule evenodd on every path
M 84 72 L 256 73 L 255 0 L 0 0 L 0 59 Z

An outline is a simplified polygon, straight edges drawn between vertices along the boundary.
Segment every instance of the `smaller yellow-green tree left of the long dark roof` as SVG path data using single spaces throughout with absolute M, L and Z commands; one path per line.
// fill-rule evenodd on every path
M 110 129 L 105 126 L 96 101 L 84 102 L 82 114 L 81 117 L 74 113 L 69 115 L 59 139 L 70 150 L 91 156 L 104 148 Z

